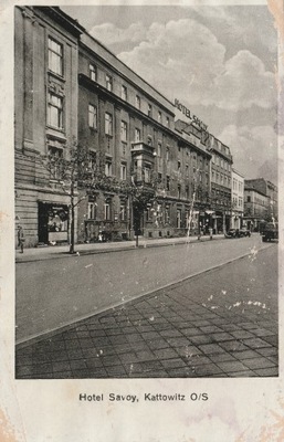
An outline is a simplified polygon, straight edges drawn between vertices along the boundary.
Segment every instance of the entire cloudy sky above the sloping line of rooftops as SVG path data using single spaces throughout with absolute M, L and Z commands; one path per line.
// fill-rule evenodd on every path
M 245 178 L 277 182 L 277 33 L 266 6 L 62 9 L 208 125 Z

